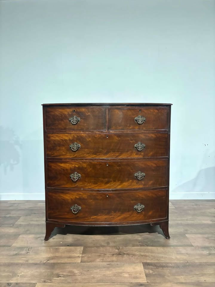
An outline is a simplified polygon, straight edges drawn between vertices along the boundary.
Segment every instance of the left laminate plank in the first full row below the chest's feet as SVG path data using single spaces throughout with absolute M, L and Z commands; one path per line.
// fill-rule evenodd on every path
M 0 262 L 80 262 L 83 247 L 0 247 Z

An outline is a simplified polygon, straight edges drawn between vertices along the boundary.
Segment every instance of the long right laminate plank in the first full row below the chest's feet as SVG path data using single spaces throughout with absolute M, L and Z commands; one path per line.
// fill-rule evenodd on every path
M 84 247 L 81 262 L 215 262 L 215 248 Z

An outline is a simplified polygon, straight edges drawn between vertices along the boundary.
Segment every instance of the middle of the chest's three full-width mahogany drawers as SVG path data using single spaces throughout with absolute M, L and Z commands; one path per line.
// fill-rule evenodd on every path
M 145 173 L 144 178 L 135 178 L 134 174 L 139 171 Z M 47 186 L 76 189 L 165 187 L 168 186 L 168 160 L 48 161 Z

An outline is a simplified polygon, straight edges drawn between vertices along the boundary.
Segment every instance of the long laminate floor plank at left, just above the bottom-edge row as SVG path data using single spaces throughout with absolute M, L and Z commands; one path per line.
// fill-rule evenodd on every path
M 0 282 L 146 282 L 141 263 L 0 263 Z

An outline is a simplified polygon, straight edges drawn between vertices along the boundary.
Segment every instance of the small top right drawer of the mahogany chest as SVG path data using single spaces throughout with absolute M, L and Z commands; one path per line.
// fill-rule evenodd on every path
M 168 120 L 169 108 L 109 108 L 110 130 L 168 129 Z

